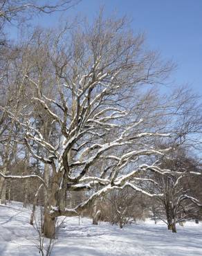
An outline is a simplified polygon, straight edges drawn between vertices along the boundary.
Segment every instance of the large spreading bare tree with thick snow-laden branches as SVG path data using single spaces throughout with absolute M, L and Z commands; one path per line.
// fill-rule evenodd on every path
M 155 88 L 172 64 L 145 51 L 143 35 L 127 31 L 125 19 L 104 20 L 100 15 L 92 25 L 66 28 L 37 30 L 21 46 L 19 82 L 30 102 L 18 113 L 1 107 L 21 127 L 21 142 L 32 158 L 48 165 L 48 181 L 39 175 L 1 173 L 3 179 L 43 183 L 46 237 L 53 237 L 56 217 L 79 215 L 111 190 L 129 187 L 156 196 L 137 184 L 140 179 L 147 183 L 144 172 L 164 172 L 143 163 L 172 150 L 156 143 L 172 133 L 169 104 L 160 102 Z M 49 136 L 33 122 L 40 109 L 50 118 Z M 38 152 L 34 145 L 39 145 Z M 102 172 L 96 172 L 98 165 Z M 66 191 L 81 190 L 93 194 L 65 208 Z

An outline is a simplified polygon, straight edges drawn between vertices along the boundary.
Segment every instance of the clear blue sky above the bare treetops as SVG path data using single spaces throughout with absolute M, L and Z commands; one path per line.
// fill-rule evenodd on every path
M 118 16 L 128 15 L 132 28 L 146 33 L 149 48 L 178 65 L 175 82 L 189 83 L 202 94 L 202 0 L 82 0 L 66 15 L 81 14 L 91 20 L 100 6 L 106 15 L 115 10 Z M 58 17 L 59 13 L 35 23 L 55 25 Z

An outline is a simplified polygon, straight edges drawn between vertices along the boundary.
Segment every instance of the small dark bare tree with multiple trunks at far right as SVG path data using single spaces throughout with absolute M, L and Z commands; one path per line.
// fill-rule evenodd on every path
M 190 219 L 191 215 L 194 218 L 194 204 L 199 204 L 198 199 L 192 196 L 193 188 L 188 185 L 188 181 L 193 176 L 201 176 L 201 172 L 194 159 L 186 154 L 184 149 L 178 148 L 169 154 L 169 158 L 161 161 L 159 166 L 151 167 L 164 170 L 163 176 L 153 176 L 156 181 L 154 191 L 163 194 L 157 200 L 165 212 L 162 215 L 162 208 L 159 208 L 156 215 L 163 221 L 167 220 L 167 227 L 172 232 L 176 232 L 176 223 Z

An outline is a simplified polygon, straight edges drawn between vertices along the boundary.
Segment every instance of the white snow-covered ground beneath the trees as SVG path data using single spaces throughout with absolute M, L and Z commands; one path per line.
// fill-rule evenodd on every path
M 30 226 L 30 210 L 21 203 L 0 205 L 0 255 L 40 255 L 37 232 Z M 120 230 L 91 219 L 66 218 L 58 233 L 52 255 L 202 255 L 202 225 L 187 222 L 178 233 L 167 230 L 163 223 L 138 223 Z

